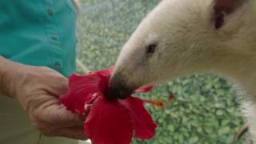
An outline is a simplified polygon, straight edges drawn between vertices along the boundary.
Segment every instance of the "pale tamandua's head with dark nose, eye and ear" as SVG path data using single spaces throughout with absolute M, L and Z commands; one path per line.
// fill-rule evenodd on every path
M 234 59 L 250 53 L 255 41 L 255 3 L 163 0 L 123 47 L 110 79 L 110 95 L 126 98 L 142 85 L 225 71 L 227 62 L 231 69 Z

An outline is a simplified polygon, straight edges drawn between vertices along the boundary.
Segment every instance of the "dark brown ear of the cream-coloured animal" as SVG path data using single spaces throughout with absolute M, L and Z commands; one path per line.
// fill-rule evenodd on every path
M 238 10 L 247 0 L 214 0 L 214 26 L 220 29 L 225 21 L 225 17 Z

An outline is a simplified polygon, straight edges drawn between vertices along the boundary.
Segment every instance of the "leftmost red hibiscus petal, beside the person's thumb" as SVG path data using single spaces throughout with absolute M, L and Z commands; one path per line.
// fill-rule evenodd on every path
M 98 74 L 91 73 L 88 75 L 73 74 L 69 78 L 70 89 L 60 98 L 61 102 L 68 110 L 85 114 L 84 106 L 94 101 L 98 94 L 106 90 L 106 82 Z

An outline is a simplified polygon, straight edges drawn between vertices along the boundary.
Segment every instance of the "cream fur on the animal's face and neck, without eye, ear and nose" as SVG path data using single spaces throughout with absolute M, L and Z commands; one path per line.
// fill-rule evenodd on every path
M 194 73 L 220 74 L 244 91 L 244 112 L 256 138 L 256 1 L 227 15 L 216 30 L 214 0 L 163 0 L 138 26 L 116 63 L 127 86 Z M 158 42 L 153 55 L 146 46 Z

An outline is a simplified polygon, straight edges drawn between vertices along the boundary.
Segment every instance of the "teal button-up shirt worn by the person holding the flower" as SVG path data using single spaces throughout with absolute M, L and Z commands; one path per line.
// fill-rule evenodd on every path
M 69 76 L 75 70 L 76 16 L 71 0 L 0 0 L 0 54 Z

